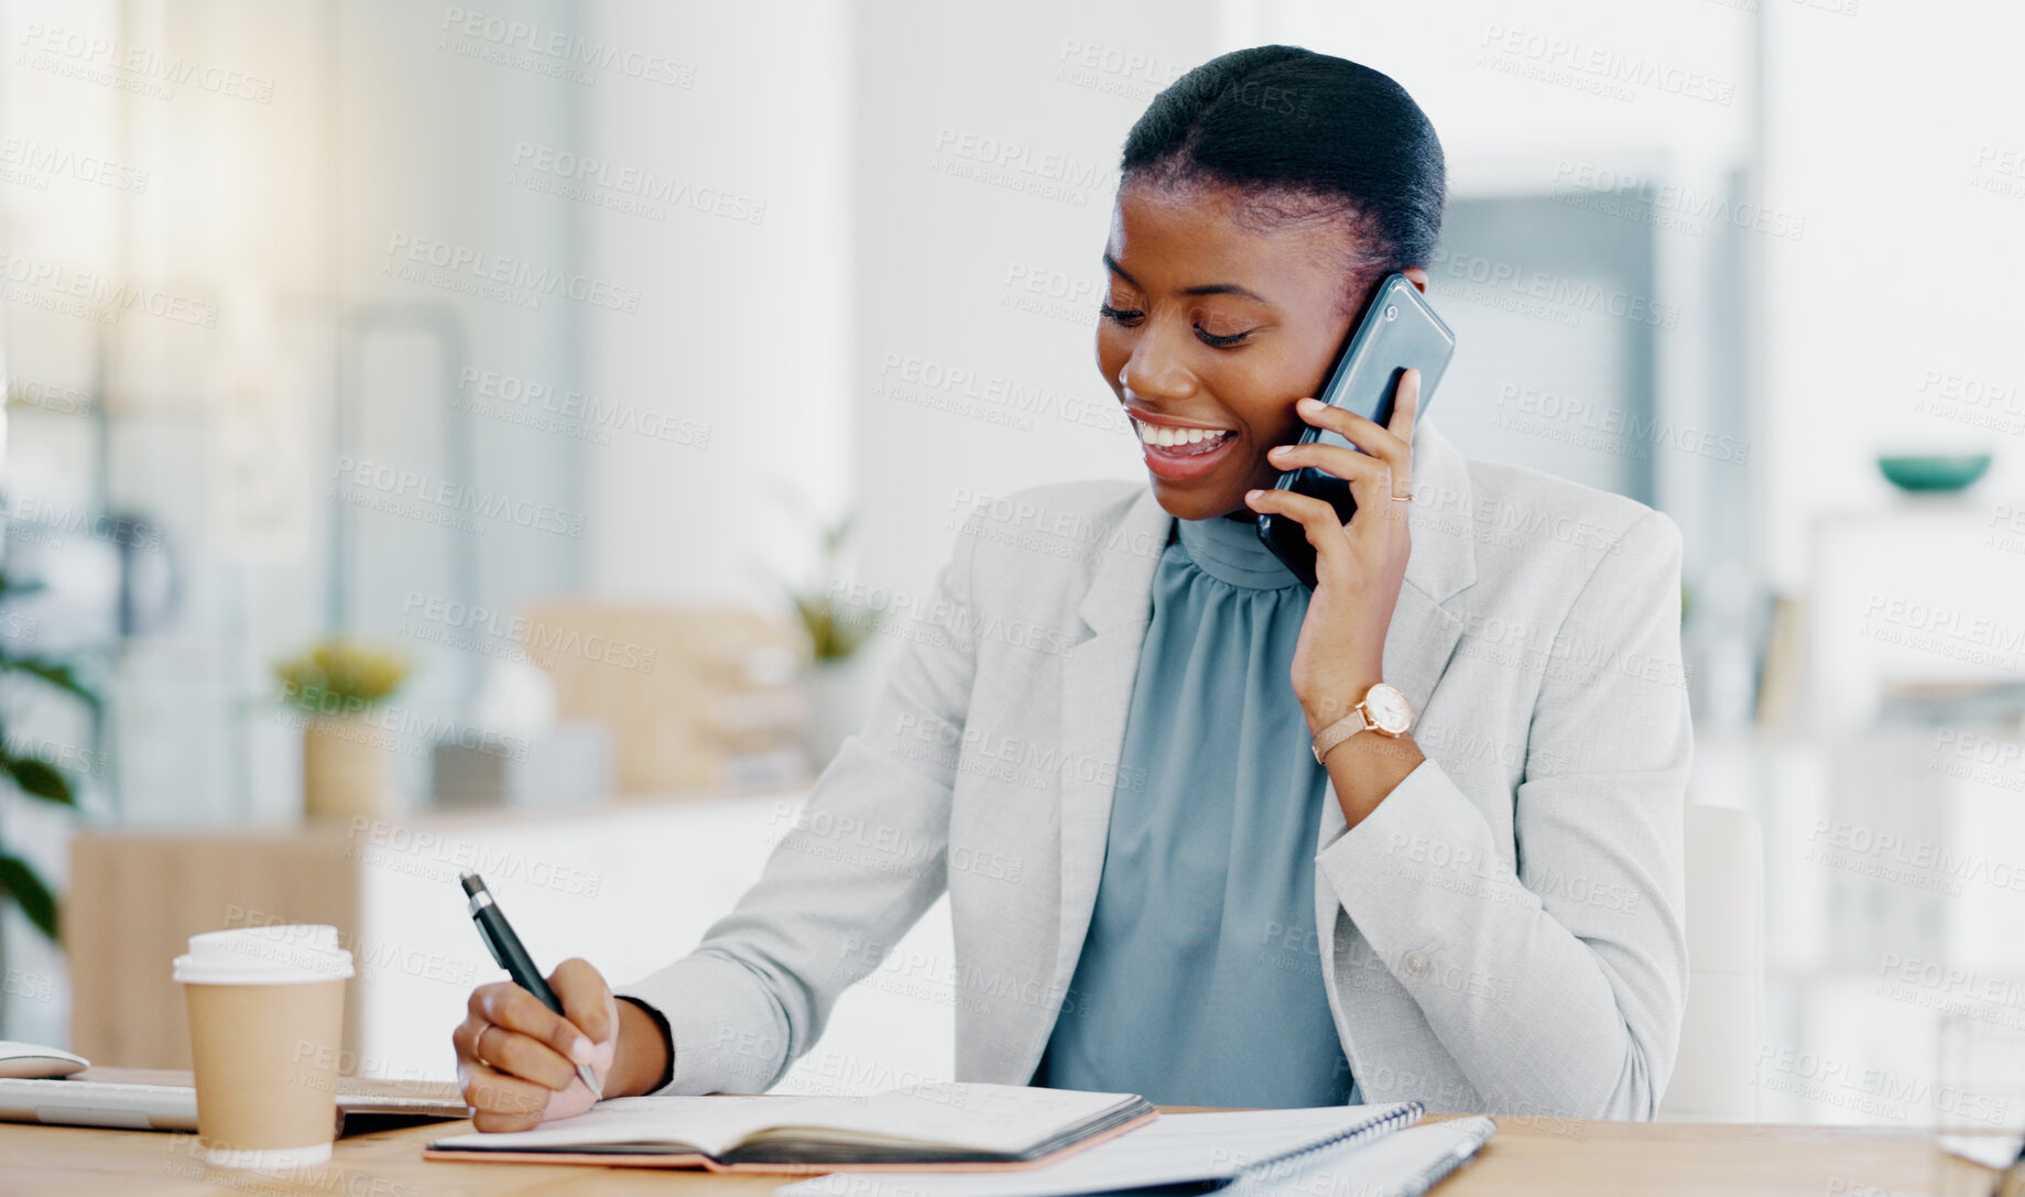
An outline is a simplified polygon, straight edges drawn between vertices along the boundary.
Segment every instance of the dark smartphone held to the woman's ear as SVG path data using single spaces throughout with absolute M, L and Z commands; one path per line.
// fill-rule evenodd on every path
M 1330 407 L 1355 411 L 1377 423 L 1391 423 L 1391 405 L 1399 389 L 1399 375 L 1420 371 L 1420 407 L 1413 411 L 1413 419 L 1418 421 L 1428 413 L 1434 387 L 1442 381 L 1442 371 L 1448 369 L 1448 358 L 1454 354 L 1456 334 L 1434 314 L 1428 298 L 1403 273 L 1389 273 L 1371 294 L 1363 318 L 1351 326 L 1343 348 L 1336 350 L 1328 383 L 1316 399 Z M 1314 427 L 1312 423 L 1300 433 L 1300 442 L 1296 444 L 1304 446 L 1310 442 L 1349 450 L 1357 448 L 1343 440 L 1341 433 Z M 1280 474 L 1274 488 L 1326 498 L 1345 523 L 1357 510 L 1349 482 L 1310 466 Z M 1274 557 L 1284 561 L 1308 589 L 1314 589 L 1314 545 L 1308 543 L 1308 533 L 1302 531 L 1300 521 L 1268 512 L 1260 516 L 1258 531 Z

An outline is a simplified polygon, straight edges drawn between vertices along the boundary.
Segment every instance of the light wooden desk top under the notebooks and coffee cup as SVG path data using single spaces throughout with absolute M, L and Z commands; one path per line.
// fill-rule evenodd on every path
M 0 1124 L 0 1189 L 36 1195 L 423 1197 L 433 1193 L 739 1193 L 763 1197 L 782 1177 L 715 1177 L 660 1169 L 425 1163 L 421 1144 L 470 1130 L 437 1122 L 338 1140 L 332 1163 L 294 1177 L 207 1169 L 194 1134 Z M 1697 1126 L 1498 1118 L 1498 1134 L 1438 1197 L 1624 1193 L 1928 1193 L 1924 1132 L 1833 1126 Z M 1960 1161 L 1962 1177 L 1978 1169 Z M 1316 1195 L 1347 1197 L 1347 1195 Z

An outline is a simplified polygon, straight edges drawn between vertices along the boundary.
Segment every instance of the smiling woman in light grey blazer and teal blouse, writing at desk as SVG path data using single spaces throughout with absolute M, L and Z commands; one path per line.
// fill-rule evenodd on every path
M 1426 290 L 1442 198 L 1377 71 L 1258 47 L 1162 91 L 1098 322 L 1150 488 L 980 506 L 948 636 L 691 956 L 624 1001 L 563 964 L 567 1019 L 472 994 L 478 1128 L 581 1112 L 585 1059 L 608 1096 L 765 1090 L 944 889 L 958 1080 L 1650 1118 L 1687 988 L 1679 533 L 1462 460 L 1411 373 L 1389 427 L 1306 399 L 1381 277 Z M 1353 518 L 1272 490 L 1294 466 Z M 1260 512 L 1306 529 L 1312 593 Z

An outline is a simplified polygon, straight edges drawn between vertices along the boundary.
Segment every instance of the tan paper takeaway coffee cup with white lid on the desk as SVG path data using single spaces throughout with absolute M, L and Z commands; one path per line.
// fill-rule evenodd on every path
M 225 1169 L 330 1159 L 352 954 L 326 926 L 190 936 L 176 980 L 190 1007 L 196 1136 Z

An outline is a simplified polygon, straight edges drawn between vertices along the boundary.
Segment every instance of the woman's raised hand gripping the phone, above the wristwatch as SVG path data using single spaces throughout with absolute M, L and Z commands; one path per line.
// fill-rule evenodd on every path
M 1351 523 L 1320 498 L 1292 490 L 1251 490 L 1245 504 L 1300 523 L 1314 545 L 1314 593 L 1294 646 L 1294 695 L 1316 733 L 1351 713 L 1365 691 L 1383 681 L 1385 630 L 1391 628 L 1405 561 L 1411 553 L 1407 502 L 1413 486 L 1413 409 L 1420 407 L 1420 371 L 1399 377 L 1391 427 L 1363 415 L 1302 399 L 1296 411 L 1326 427 L 1355 450 L 1278 446 L 1266 454 L 1280 470 L 1312 466 L 1351 484 L 1357 510 Z

